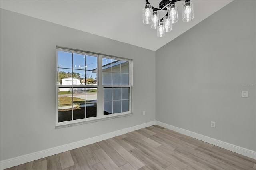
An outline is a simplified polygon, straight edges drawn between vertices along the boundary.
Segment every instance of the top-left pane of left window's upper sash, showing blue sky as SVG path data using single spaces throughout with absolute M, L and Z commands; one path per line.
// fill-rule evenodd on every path
M 72 69 L 72 53 L 58 51 L 57 67 Z

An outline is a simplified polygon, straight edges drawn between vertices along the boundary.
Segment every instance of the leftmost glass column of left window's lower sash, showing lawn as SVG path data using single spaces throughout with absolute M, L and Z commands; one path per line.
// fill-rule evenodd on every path
M 72 120 L 72 88 L 58 88 L 58 122 Z

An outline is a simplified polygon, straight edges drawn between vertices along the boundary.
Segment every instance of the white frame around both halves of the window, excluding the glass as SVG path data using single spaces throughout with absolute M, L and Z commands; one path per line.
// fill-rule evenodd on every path
M 58 73 L 58 51 L 70 52 L 70 53 L 78 53 L 82 55 L 90 55 L 97 57 L 97 85 L 58 85 L 57 81 L 57 73 Z M 108 59 L 117 59 L 122 61 L 129 62 L 129 83 L 128 85 L 102 85 L 102 58 Z M 101 55 L 97 53 L 91 53 L 87 51 L 80 51 L 80 50 L 73 50 L 73 49 L 66 49 L 62 47 L 56 47 L 56 127 L 67 127 L 70 125 L 79 125 L 83 123 L 89 123 L 94 121 L 101 121 L 105 119 L 111 119 L 116 117 L 121 117 L 125 115 L 132 115 L 132 60 L 131 59 L 124 59 L 120 57 L 113 57 L 108 55 Z M 84 118 L 84 119 L 76 119 L 71 121 L 64 121 L 58 122 L 58 88 L 59 87 L 66 87 L 66 88 L 97 88 L 97 116 Z M 129 111 L 123 113 L 113 113 L 110 115 L 104 115 L 104 87 L 129 87 Z M 73 117 L 73 116 L 72 116 Z

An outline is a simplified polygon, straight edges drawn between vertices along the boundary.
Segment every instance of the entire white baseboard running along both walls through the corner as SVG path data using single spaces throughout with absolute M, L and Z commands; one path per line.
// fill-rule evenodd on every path
M 75 148 L 80 148 L 82 146 L 86 146 L 86 145 L 89 145 L 89 144 L 92 144 L 92 143 L 100 142 L 102 140 L 113 138 L 115 136 L 119 136 L 121 134 L 132 132 L 134 130 L 149 127 L 149 126 L 152 126 L 152 125 L 159 125 L 161 127 L 168 128 L 170 130 L 174 130 L 174 131 L 179 132 L 181 134 L 185 134 L 185 135 L 190 136 L 192 138 L 196 138 L 198 140 L 202 140 L 204 142 L 213 144 L 215 146 L 219 146 L 221 148 L 236 152 L 238 154 L 242 154 L 244 156 L 248 156 L 250 158 L 256 159 L 256 152 L 253 151 L 253 150 L 242 148 L 240 146 L 236 146 L 236 145 L 233 145 L 233 144 L 230 144 L 230 143 L 227 143 L 227 142 L 223 142 L 223 141 L 220 141 L 220 140 L 217 140 L 217 139 L 214 139 L 214 138 L 210 138 L 208 136 L 204 136 L 202 134 L 191 132 L 189 130 L 174 127 L 174 126 L 168 125 L 166 123 L 162 123 L 162 122 L 159 122 L 159 121 L 152 121 L 152 122 L 143 123 L 141 125 L 136 125 L 136 126 L 133 126 L 133 127 L 124 128 L 124 129 L 121 129 L 121 130 L 110 132 L 110 133 L 107 133 L 107 134 L 102 134 L 100 136 L 96 136 L 96 137 L 93 137 L 93 138 L 80 140 L 78 142 L 73 142 L 73 143 L 70 143 L 70 144 L 66 144 L 66 145 L 62 145 L 62 146 L 58 146 L 58 147 L 54 147 L 54 148 L 34 152 L 34 153 L 31 153 L 31 154 L 18 156 L 18 157 L 11 158 L 11 159 L 8 159 L 8 160 L 2 160 L 0 162 L 0 169 L 3 170 L 3 169 L 6 169 L 6 168 L 10 168 L 12 166 L 17 166 L 17 165 L 20 165 L 20 164 L 24 164 L 26 162 L 30 162 L 30 161 L 33 161 L 33 160 L 45 158 L 47 156 L 51 156 L 51 155 L 54 155 L 54 154 L 59 154 L 61 152 L 66 152 L 68 150 L 72 150 L 72 149 L 75 149 Z

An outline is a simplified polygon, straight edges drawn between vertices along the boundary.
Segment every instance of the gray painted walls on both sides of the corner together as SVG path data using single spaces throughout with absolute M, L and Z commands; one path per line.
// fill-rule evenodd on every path
M 255 6 L 234 1 L 156 53 L 1 9 L 1 160 L 154 121 L 155 110 L 157 121 L 256 150 L 255 86 L 242 86 L 256 83 Z M 134 59 L 134 115 L 55 129 L 56 45 Z

